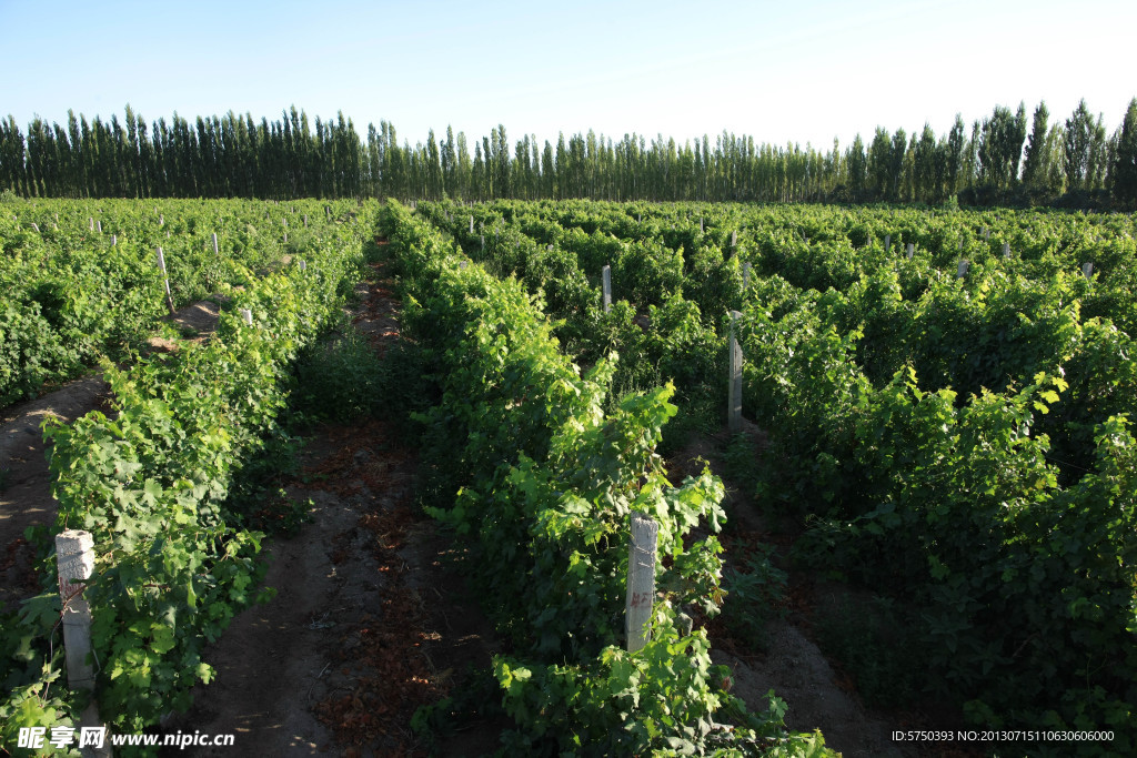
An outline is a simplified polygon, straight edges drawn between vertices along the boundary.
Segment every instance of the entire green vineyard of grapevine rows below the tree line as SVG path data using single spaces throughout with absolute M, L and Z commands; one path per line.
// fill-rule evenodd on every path
M 1131 216 L 518 200 L 0 211 L 0 405 L 97 365 L 113 393 L 43 428 L 58 505 L 30 533 L 42 593 L 0 608 L 9 750 L 19 726 L 75 723 L 86 705 L 59 644 L 49 535 L 64 528 L 96 545 L 83 597 L 105 722 L 157 728 L 215 676 L 209 645 L 272 597 L 265 533 L 304 511 L 264 469 L 292 455 L 298 417 L 335 413 L 306 392 L 305 366 L 358 348 L 342 309 L 380 260 L 401 334 L 349 372 L 339 406 L 398 425 L 416 452 L 417 511 L 465 556 L 500 641 L 489 699 L 506 755 L 833 755 L 815 724 L 787 725 L 777 693 L 732 693 L 711 658 L 719 640 L 761 652 L 762 620 L 810 616 L 812 583 L 864 602 L 815 635 L 866 701 L 952 728 L 1112 733 L 985 745 L 999 755 L 1137 750 Z M 204 299 L 219 309 L 208 339 L 165 318 Z M 155 350 L 159 336 L 174 348 Z M 681 451 L 712 439 L 722 470 L 681 474 Z M 728 498 L 724 478 L 742 491 Z M 640 517 L 657 542 L 637 647 Z M 746 519 L 757 541 L 739 539 Z M 402 747 L 425 751 L 460 701 L 420 708 Z

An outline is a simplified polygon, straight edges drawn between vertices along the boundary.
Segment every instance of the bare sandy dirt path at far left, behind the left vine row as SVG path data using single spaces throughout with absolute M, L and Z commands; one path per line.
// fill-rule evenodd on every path
M 192 330 L 194 341 L 202 341 L 216 330 L 217 317 L 217 303 L 204 300 L 182 308 L 169 320 Z M 152 338 L 149 348 L 169 351 L 177 345 Z M 56 518 L 43 422 L 53 417 L 69 424 L 97 408 L 106 410 L 109 400 L 110 388 L 97 373 L 0 410 L 0 606 L 13 606 L 38 591 L 35 555 L 24 531 Z

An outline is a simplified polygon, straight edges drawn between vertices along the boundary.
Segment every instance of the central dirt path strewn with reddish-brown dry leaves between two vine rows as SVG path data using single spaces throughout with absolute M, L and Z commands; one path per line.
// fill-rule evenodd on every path
M 399 335 L 382 266 L 357 292 L 352 322 L 382 353 Z M 454 568 L 460 556 L 414 507 L 416 461 L 389 424 L 324 426 L 301 463 L 288 491 L 310 498 L 313 522 L 266 548 L 276 597 L 234 619 L 206 656 L 215 682 L 164 731 L 233 733 L 241 755 L 424 755 L 410 717 L 489 665 L 492 627 Z M 443 750 L 496 745 L 474 728 Z

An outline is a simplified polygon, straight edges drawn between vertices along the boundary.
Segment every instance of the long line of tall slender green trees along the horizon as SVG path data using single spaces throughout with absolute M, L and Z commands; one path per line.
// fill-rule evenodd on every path
M 841 148 L 757 143 L 723 132 L 679 144 L 662 134 L 614 141 L 591 130 L 556 144 L 505 126 L 467 140 L 447 127 L 425 143 L 399 143 L 395 126 L 360 139 L 342 111 L 315 119 L 293 106 L 277 120 L 176 113 L 147 124 L 128 105 L 123 120 L 67 114 L 19 130 L 0 122 L 0 191 L 25 197 L 193 197 L 488 200 L 923 202 L 1137 207 L 1137 98 L 1106 134 L 1086 101 L 1065 119 L 1045 102 L 1028 130 L 1026 108 L 996 106 L 970 130 L 956 115 L 947 133 L 878 127 Z M 471 145 L 471 142 L 473 144 Z M 473 155 L 471 155 L 471 147 Z

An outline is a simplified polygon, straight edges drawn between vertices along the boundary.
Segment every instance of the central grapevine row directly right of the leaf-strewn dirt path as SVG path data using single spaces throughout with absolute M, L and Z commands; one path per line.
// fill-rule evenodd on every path
M 499 281 L 455 243 L 389 203 L 405 327 L 439 366 L 441 402 L 421 417 L 425 466 L 456 474 L 448 508 L 473 574 L 512 644 L 495 670 L 518 730 L 507 749 L 559 755 L 831 755 L 790 734 L 772 708 L 748 714 L 681 613 L 714 613 L 722 484 L 705 472 L 672 486 L 655 447 L 675 413 L 665 385 L 605 413 L 615 353 L 583 375 L 557 350 L 523 286 Z M 451 490 L 453 493 L 453 490 Z M 659 524 L 652 640 L 624 650 L 632 513 Z M 772 703 L 773 705 L 773 703 Z M 729 722 L 724 724 L 723 722 Z

